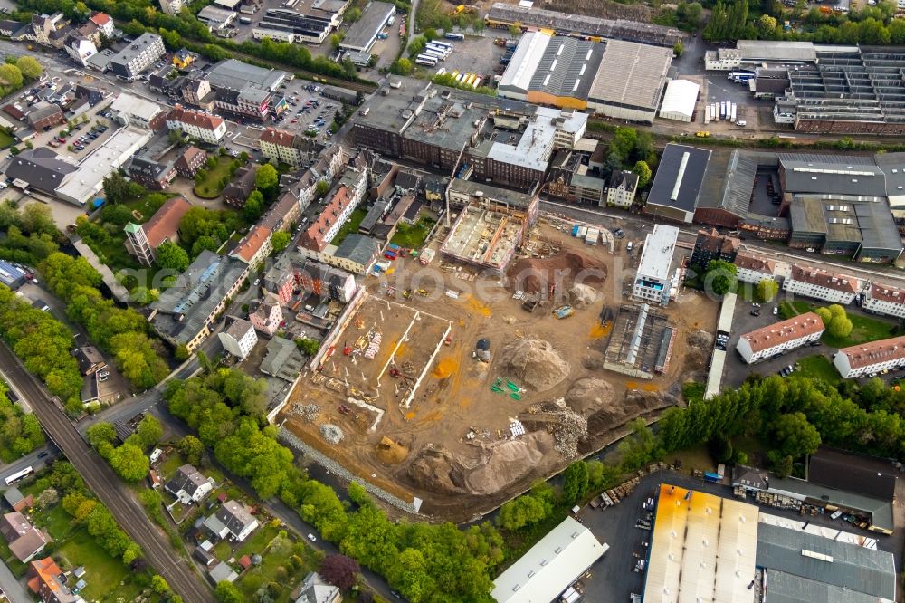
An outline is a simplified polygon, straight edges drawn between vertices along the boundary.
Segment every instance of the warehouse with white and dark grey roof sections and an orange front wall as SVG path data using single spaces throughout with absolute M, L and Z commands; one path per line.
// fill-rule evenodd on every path
M 497 90 L 510 99 L 586 110 L 603 52 L 601 43 L 529 32 L 519 41 Z

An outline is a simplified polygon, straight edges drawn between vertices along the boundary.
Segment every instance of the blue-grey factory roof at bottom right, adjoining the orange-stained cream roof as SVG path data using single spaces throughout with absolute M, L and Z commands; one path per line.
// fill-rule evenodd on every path
M 890 553 L 764 522 L 757 525 L 757 566 L 875 598 L 896 595 Z

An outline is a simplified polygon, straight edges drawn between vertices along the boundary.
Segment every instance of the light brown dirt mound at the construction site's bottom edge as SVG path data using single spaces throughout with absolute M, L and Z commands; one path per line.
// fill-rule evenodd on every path
M 553 452 L 553 436 L 546 431 L 536 431 L 517 440 L 492 445 L 488 451 L 487 462 L 465 477 L 472 493 L 497 493 L 534 471 Z

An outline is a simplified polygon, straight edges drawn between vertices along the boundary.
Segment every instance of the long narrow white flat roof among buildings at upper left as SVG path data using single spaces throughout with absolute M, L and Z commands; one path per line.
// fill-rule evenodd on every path
M 120 129 L 81 162 L 79 169 L 56 189 L 57 195 L 85 203 L 100 192 L 103 180 L 110 172 L 126 163 L 150 139 L 151 133 L 147 129 L 132 126 Z

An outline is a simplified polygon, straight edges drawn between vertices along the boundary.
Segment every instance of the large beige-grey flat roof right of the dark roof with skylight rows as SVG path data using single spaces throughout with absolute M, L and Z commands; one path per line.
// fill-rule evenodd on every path
M 656 110 L 672 64 L 672 48 L 613 40 L 594 76 L 591 101 Z

